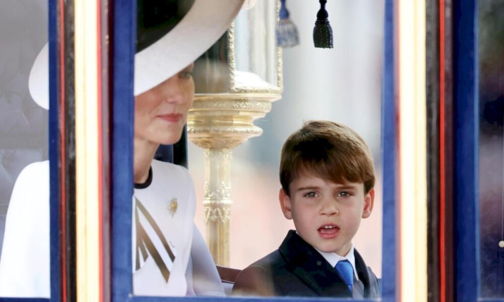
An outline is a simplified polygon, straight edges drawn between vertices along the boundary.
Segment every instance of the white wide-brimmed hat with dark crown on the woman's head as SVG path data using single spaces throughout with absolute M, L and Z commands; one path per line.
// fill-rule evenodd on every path
M 161 84 L 202 55 L 228 29 L 243 1 L 194 0 L 191 5 L 188 0 L 138 0 L 139 7 L 144 7 L 138 10 L 135 96 Z M 153 17 L 146 12 L 156 13 Z M 152 21 L 156 19 L 158 22 Z M 48 58 L 46 44 L 35 59 L 28 84 L 34 101 L 43 108 L 49 107 Z

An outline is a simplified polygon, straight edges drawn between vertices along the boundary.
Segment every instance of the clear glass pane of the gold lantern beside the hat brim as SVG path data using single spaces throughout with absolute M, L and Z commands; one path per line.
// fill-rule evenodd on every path
M 238 13 L 232 31 L 195 62 L 196 93 L 279 90 L 276 12 L 276 1 L 256 1 Z

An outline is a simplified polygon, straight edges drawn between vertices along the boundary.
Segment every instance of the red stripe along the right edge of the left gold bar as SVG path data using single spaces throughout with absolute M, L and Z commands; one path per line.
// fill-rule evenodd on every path
M 98 275 L 99 275 L 99 301 L 103 302 L 103 151 L 102 151 L 102 79 L 101 79 L 101 1 L 96 0 L 97 14 L 97 75 L 98 81 L 97 106 L 98 106 Z

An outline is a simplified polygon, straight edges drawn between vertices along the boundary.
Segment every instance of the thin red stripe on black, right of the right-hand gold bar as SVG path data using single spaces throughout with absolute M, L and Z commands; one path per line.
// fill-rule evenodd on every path
M 439 299 L 446 301 L 445 1 L 439 0 Z

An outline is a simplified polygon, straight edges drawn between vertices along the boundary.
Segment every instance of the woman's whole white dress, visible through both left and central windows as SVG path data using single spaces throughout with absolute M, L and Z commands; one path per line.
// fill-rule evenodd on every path
M 133 223 L 134 293 L 224 295 L 210 252 L 193 223 L 196 202 L 190 175 L 182 167 L 158 161 L 153 162 L 152 170 L 153 175 L 159 177 L 153 177 L 148 188 L 135 189 L 135 197 L 141 199 L 160 221 L 158 224 L 164 228 L 177 255 L 168 282 L 150 262 L 152 257 L 141 269 L 135 270 L 136 230 Z M 154 198 L 152 201 L 151 197 Z M 177 198 L 173 217 L 166 202 L 172 197 Z M 0 258 L 0 297 L 50 297 L 49 225 L 49 162 L 44 161 L 25 167 L 14 185 Z M 195 265 L 190 263 L 190 254 L 193 260 L 198 260 Z

